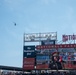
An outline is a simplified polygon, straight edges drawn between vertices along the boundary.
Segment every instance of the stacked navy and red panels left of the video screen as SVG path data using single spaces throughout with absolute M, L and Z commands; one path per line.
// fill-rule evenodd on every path
M 32 70 L 35 66 L 35 46 L 23 47 L 23 69 Z

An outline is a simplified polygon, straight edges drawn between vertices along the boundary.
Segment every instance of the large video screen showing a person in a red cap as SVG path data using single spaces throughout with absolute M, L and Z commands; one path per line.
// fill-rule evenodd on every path
M 41 55 L 39 55 L 39 53 Z M 58 69 L 76 69 L 75 48 L 53 48 L 49 50 L 39 50 L 39 53 L 36 55 L 37 69 L 57 69 L 57 66 L 59 67 Z M 57 66 L 56 62 L 54 61 L 55 57 L 58 58 Z

